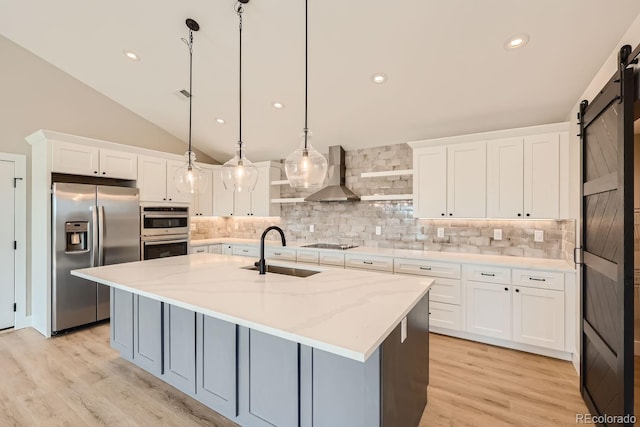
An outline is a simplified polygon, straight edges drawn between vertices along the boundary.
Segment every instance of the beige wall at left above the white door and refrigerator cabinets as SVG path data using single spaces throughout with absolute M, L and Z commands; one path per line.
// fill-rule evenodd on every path
M 84 83 L 0 36 L 0 152 L 27 156 L 27 216 L 31 212 L 31 148 L 39 129 L 182 154 L 186 144 Z M 185 124 L 186 125 L 186 124 Z M 198 160 L 218 163 L 197 152 Z M 27 222 L 27 244 L 31 224 Z M 27 248 L 29 254 L 30 248 Z M 27 257 L 27 305 L 31 304 L 31 258 Z M 31 314 L 29 309 L 26 313 Z

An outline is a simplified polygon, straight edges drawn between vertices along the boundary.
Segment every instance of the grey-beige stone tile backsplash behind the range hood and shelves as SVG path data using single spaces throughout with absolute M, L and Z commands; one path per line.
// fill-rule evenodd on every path
M 411 169 L 411 148 L 397 144 L 347 151 L 346 185 L 356 194 L 411 194 L 411 175 L 362 178 L 362 172 Z M 281 197 L 304 197 L 283 185 Z M 537 258 L 572 259 L 574 220 L 450 220 L 413 218 L 407 201 L 306 202 L 282 204 L 279 218 L 192 218 L 192 239 L 215 237 L 260 238 L 278 225 L 291 242 L 326 242 L 367 247 L 469 252 Z M 313 225 L 314 231 L 310 231 Z M 376 234 L 379 227 L 380 234 Z M 438 237 L 442 228 L 444 237 Z M 502 240 L 494 230 L 502 230 Z M 543 242 L 534 241 L 542 230 Z M 277 233 L 268 236 L 276 239 Z

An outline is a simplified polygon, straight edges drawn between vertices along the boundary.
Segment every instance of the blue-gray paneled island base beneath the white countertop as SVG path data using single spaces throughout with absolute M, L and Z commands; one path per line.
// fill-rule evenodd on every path
M 80 271 L 100 281 L 90 270 Z M 102 283 L 112 285 L 111 346 L 121 357 L 242 426 L 419 424 L 429 382 L 428 286 L 360 361 Z

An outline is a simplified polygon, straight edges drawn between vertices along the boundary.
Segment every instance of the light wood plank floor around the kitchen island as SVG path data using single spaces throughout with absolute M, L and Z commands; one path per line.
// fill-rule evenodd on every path
M 586 412 L 569 362 L 434 334 L 430 346 L 420 427 L 575 426 Z M 0 333 L 0 426 L 63 425 L 235 424 L 120 359 L 108 324 L 53 339 Z

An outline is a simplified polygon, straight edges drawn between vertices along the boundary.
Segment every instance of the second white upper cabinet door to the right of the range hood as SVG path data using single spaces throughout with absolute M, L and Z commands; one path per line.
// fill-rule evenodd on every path
M 447 216 L 486 217 L 486 195 L 486 143 L 473 142 L 447 147 Z

